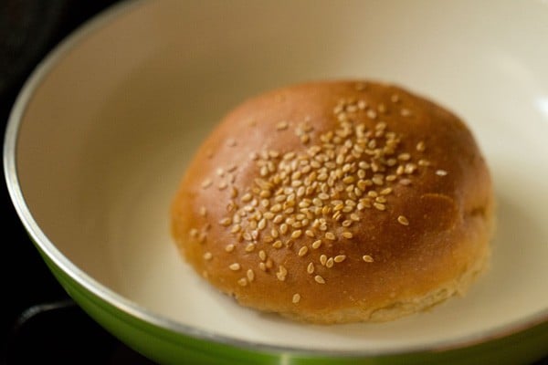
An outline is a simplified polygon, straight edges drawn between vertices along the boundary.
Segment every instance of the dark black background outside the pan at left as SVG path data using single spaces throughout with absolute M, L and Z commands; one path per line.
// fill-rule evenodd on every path
M 0 0 L 3 130 L 21 87 L 37 63 L 91 16 L 121 1 Z M 5 179 L 0 190 L 4 228 L 0 364 L 153 364 L 114 339 L 74 304 L 27 237 Z M 548 365 L 548 359 L 537 364 Z

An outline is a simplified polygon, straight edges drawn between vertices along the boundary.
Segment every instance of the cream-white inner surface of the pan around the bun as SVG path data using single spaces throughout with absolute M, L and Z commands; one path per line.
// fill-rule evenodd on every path
M 38 244 L 161 317 L 270 345 L 428 347 L 545 311 L 546 16 L 543 2 L 512 1 L 135 6 L 58 54 L 28 101 L 16 168 L 48 238 Z M 394 322 L 303 325 L 238 307 L 181 260 L 168 210 L 200 141 L 248 96 L 319 78 L 395 82 L 467 120 L 493 173 L 498 230 L 466 297 Z

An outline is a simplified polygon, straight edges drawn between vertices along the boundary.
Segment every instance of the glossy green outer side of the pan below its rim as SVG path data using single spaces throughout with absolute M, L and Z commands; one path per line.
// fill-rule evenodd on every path
M 548 353 L 548 322 L 455 349 L 338 354 L 261 346 L 203 333 L 192 334 L 164 328 L 134 316 L 79 284 L 37 246 L 58 282 L 91 318 L 132 349 L 160 364 L 531 364 Z

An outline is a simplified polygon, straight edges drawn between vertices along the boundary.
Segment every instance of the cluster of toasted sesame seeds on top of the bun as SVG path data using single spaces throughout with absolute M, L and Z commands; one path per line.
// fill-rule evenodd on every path
M 255 167 L 258 178 L 248 186 L 234 185 L 240 172 L 237 164 L 217 167 L 215 184 L 229 195 L 227 216 L 219 224 L 227 227 L 234 237 L 234 244 L 226 245 L 226 251 L 236 250 L 235 244 L 238 247 L 243 244 L 242 249 L 248 253 L 257 250 L 258 268 L 267 272 L 278 267 L 279 281 L 285 281 L 288 275 L 288 270 L 279 266 L 284 255 L 303 257 L 312 254 L 311 250 L 319 250 L 321 266 L 332 268 L 344 262 L 346 255 L 342 251 L 339 255 L 326 251 L 325 255 L 321 248 L 341 250 L 348 245 L 342 239 L 353 238 L 349 227 L 364 219 L 366 210 L 369 209 L 368 214 L 389 210 L 394 187 L 411 183 L 416 172 L 430 164 L 427 156 L 419 153 L 426 150 L 424 141 L 416 142 L 415 146 L 402 143 L 405 135 L 391 130 L 392 123 L 397 121 L 392 119 L 395 114 L 406 117 L 413 112 L 399 95 L 389 98 L 398 105 L 340 99 L 332 109 L 336 124 L 331 130 L 315 131 L 313 116 L 306 116 L 304 121 L 300 118 L 287 135 L 288 139 L 300 142 L 296 150 L 276 151 L 267 147 L 249 153 L 247 163 Z M 260 122 L 253 119 L 254 125 Z M 275 128 L 288 130 L 292 124 L 279 120 Z M 232 146 L 236 142 L 227 140 Z M 436 171 L 440 176 L 447 174 L 444 172 Z M 202 186 L 213 183 L 205 179 Z M 198 213 L 205 216 L 207 211 L 201 207 Z M 403 215 L 397 221 L 408 224 Z M 191 231 L 191 236 L 204 241 L 205 234 L 204 229 Z M 269 246 L 277 254 L 269 257 L 265 251 Z M 313 260 L 316 259 L 314 255 Z M 363 260 L 373 262 L 370 255 L 364 255 Z M 230 267 L 235 271 L 241 268 L 237 263 Z M 315 266 L 310 262 L 306 269 L 312 275 Z M 254 272 L 248 269 L 247 277 L 240 280 L 248 285 L 254 278 Z M 321 284 L 325 282 L 322 276 L 314 279 Z

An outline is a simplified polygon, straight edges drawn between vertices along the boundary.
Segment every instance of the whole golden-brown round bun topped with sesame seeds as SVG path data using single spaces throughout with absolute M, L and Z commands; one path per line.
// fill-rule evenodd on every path
M 244 306 L 387 320 L 469 286 L 493 205 L 457 116 L 394 85 L 325 81 L 228 113 L 188 166 L 172 224 L 187 262 Z

